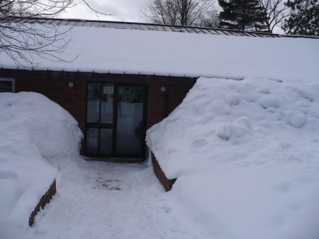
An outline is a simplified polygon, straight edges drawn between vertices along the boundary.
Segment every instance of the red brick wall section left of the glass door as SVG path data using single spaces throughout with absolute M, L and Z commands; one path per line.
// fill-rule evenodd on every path
M 16 92 L 33 91 L 47 96 L 69 111 L 79 123 L 84 133 L 86 109 L 86 82 L 74 82 L 74 87 L 68 86 L 65 80 L 34 80 L 16 79 Z M 84 154 L 84 140 L 82 140 L 81 154 Z

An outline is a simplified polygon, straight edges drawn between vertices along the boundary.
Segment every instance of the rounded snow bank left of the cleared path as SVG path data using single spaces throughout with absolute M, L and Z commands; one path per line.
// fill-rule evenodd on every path
M 1 239 L 27 237 L 30 213 L 57 176 L 43 157 L 75 160 L 81 138 L 77 121 L 47 97 L 0 94 Z

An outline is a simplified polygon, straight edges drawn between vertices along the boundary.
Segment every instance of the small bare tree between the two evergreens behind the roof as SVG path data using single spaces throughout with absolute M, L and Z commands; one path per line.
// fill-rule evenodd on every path
M 272 33 L 274 27 L 280 26 L 284 19 L 289 16 L 285 0 L 260 0 L 260 5 L 267 15 L 265 23 L 269 33 Z

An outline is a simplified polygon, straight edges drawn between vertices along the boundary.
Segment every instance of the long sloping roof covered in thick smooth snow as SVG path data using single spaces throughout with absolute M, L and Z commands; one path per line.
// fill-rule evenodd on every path
M 58 24 L 60 30 L 72 28 L 72 43 L 59 57 L 64 60 L 79 57 L 73 62 L 52 62 L 35 56 L 34 62 L 40 62 L 35 70 L 232 79 L 318 79 L 319 76 L 318 38 L 272 34 L 276 37 L 249 37 L 247 33 L 240 35 L 225 30 L 220 30 L 224 35 L 191 34 L 151 30 L 147 24 L 144 24 L 146 30 L 135 30 L 135 23 L 128 28 L 123 27 L 127 23 L 69 19 L 52 20 L 50 24 Z M 136 24 L 142 29 L 142 23 Z M 261 36 L 261 33 L 250 34 Z M 17 67 L 3 52 L 0 64 L 3 68 Z

